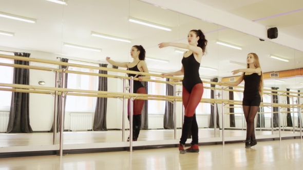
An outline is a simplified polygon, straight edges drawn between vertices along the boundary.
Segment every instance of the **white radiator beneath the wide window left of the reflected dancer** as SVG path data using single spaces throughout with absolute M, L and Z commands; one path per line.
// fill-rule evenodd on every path
M 70 113 L 69 115 L 69 130 L 87 131 L 92 129 L 91 113 Z

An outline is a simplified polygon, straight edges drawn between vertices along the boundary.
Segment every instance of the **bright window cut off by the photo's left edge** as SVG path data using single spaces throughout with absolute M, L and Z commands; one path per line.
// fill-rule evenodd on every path
M 0 62 L 2 63 L 10 63 L 13 64 L 13 59 L 5 59 L 0 58 Z M 0 82 L 1 83 L 13 83 L 13 67 L 0 66 Z M 5 87 L 2 87 L 5 88 Z M 11 104 L 12 92 L 0 91 L 0 110 L 9 111 Z

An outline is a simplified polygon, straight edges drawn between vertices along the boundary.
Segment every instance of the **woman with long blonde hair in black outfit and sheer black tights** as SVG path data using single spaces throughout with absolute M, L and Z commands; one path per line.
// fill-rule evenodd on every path
M 260 106 L 263 89 L 263 75 L 258 55 L 249 53 L 247 56 L 247 69 L 234 70 L 233 74 L 235 75 L 240 72 L 243 72 L 243 74 L 236 82 L 221 81 L 219 84 L 238 86 L 243 80 L 245 82 L 242 102 L 243 112 L 247 122 L 245 148 L 250 148 L 257 144 L 254 131 L 254 120 Z

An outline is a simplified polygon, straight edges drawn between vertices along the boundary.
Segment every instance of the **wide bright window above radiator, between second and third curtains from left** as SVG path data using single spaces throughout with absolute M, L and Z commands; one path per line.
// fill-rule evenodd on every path
M 99 72 L 99 70 L 77 67 L 69 67 L 68 70 L 89 73 Z M 98 90 L 98 76 L 68 73 L 67 88 L 79 90 Z M 96 101 L 97 97 L 67 96 L 66 111 L 93 112 L 96 108 Z

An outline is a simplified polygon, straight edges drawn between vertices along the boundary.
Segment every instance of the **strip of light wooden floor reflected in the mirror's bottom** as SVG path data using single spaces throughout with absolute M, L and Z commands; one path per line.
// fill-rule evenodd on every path
M 274 134 L 278 134 L 274 131 Z M 293 133 L 291 131 L 282 132 Z M 299 132 L 296 132 L 299 133 Z M 245 139 L 246 131 L 225 130 L 225 137 L 243 136 Z M 271 131 L 256 131 L 256 135 L 271 135 Z M 125 131 L 125 141 L 129 131 Z M 181 137 L 181 130 L 177 130 L 177 139 Z M 217 130 L 216 137 L 222 136 L 222 131 Z M 213 138 L 213 129 L 199 129 L 199 138 Z M 104 131 L 104 132 L 64 132 L 64 144 L 80 143 L 100 143 L 100 142 L 121 142 L 122 131 Z M 140 131 L 139 141 L 147 140 L 169 140 L 174 139 L 173 130 L 142 130 Z M 25 145 L 52 145 L 52 133 L 32 133 L 32 134 L 6 134 L 0 133 L 0 147 L 7 146 L 25 146 Z M 0 169 L 2 170 L 2 169 Z

